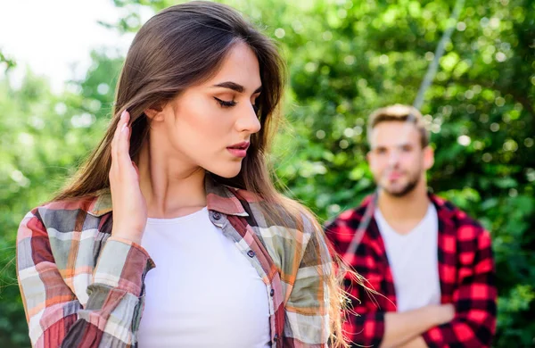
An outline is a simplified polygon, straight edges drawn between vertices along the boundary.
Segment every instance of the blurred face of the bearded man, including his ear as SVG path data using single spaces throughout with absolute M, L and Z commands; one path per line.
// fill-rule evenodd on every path
M 375 183 L 385 193 L 401 197 L 424 182 L 434 158 L 431 147 L 423 149 L 420 139 L 413 123 L 383 121 L 372 130 L 367 160 Z

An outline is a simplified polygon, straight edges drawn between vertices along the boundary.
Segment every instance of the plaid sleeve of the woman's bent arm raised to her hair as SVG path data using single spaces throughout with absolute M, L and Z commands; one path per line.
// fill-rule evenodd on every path
M 110 237 L 104 244 L 82 307 L 63 280 L 37 209 L 21 221 L 17 276 L 33 347 L 130 347 L 133 319 L 143 305 L 143 279 L 152 268 L 144 249 Z M 76 273 L 77 269 L 74 270 Z

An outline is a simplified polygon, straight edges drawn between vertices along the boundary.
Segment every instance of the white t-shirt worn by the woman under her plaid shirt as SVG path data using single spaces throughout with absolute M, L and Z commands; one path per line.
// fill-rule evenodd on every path
M 145 278 L 140 348 L 270 346 L 267 287 L 206 208 L 148 219 L 142 246 L 156 268 Z

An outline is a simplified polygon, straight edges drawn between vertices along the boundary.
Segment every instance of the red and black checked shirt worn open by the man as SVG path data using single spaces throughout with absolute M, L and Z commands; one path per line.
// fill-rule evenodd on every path
M 435 195 L 430 199 L 439 218 L 440 302 L 453 303 L 456 316 L 422 336 L 432 348 L 489 347 L 496 327 L 497 300 L 490 235 L 451 203 Z M 336 252 L 343 255 L 348 250 L 369 204 L 373 204 L 372 196 L 325 228 Z M 357 252 L 347 255 L 346 260 L 381 296 L 369 294 L 346 277 L 346 291 L 359 301 L 352 301 L 358 316 L 350 314 L 344 331 L 354 344 L 378 347 L 384 335 L 384 313 L 396 311 L 396 293 L 383 238 L 373 217 Z

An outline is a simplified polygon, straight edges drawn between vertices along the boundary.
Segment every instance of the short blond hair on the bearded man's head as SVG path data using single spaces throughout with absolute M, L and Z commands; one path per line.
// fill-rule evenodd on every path
M 383 122 L 411 122 L 420 133 L 422 148 L 429 145 L 429 132 L 425 128 L 424 117 L 415 107 L 403 104 L 393 104 L 377 109 L 370 114 L 367 122 L 367 138 L 370 143 L 372 130 Z

